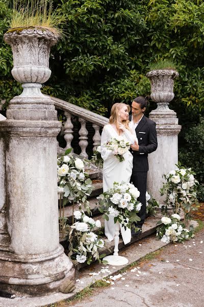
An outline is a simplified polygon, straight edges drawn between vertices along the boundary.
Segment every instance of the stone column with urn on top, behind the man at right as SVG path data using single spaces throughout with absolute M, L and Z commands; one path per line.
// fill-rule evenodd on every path
M 178 124 L 176 113 L 169 109 L 173 99 L 173 80 L 179 76 L 174 70 L 155 70 L 147 73 L 151 82 L 151 99 L 157 102 L 157 109 L 151 111 L 149 118 L 156 122 L 158 148 L 148 156 L 149 171 L 147 175 L 147 190 L 160 202 L 163 186 L 163 174 L 175 169 L 178 162 L 178 134 L 181 126 Z

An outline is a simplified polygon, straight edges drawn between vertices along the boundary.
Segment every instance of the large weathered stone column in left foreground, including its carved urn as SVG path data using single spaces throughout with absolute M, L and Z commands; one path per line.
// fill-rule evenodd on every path
M 0 122 L 10 240 L 7 249 L 0 246 L 0 282 L 4 290 L 40 295 L 58 291 L 65 277 L 74 276 L 59 244 L 56 136 L 61 123 L 54 102 L 40 91 L 51 73 L 48 57 L 56 37 L 25 29 L 7 32 L 5 40 L 13 51 L 12 75 L 23 83 L 23 92 L 10 101 L 7 120 Z

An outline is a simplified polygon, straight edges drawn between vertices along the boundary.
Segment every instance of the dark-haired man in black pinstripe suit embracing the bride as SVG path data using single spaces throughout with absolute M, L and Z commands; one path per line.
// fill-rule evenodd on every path
M 146 97 L 139 96 L 132 102 L 132 115 L 129 116 L 131 127 L 135 129 L 138 144 L 131 145 L 133 155 L 133 172 L 131 182 L 140 191 L 139 201 L 142 203 L 138 213 L 141 221 L 135 224 L 139 228 L 137 232 L 132 230 L 132 236 L 142 232 L 142 225 L 146 216 L 146 185 L 148 167 L 148 153 L 157 149 L 156 123 L 144 116 L 148 100 Z

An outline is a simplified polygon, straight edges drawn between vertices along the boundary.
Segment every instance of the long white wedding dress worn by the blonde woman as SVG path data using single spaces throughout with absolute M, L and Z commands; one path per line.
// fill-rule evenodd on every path
M 132 132 L 132 133 L 131 133 Z M 125 131 L 121 135 L 124 140 L 130 141 L 131 144 L 134 144 L 135 141 L 138 142 L 135 129 L 129 131 L 125 129 Z M 104 144 L 110 141 L 111 138 L 118 137 L 116 130 L 113 128 L 111 124 L 107 124 L 104 126 L 104 129 L 101 134 L 101 157 L 104 160 L 103 167 L 103 190 L 106 192 L 107 190 L 113 188 L 113 183 L 122 181 L 125 183 L 129 183 L 131 179 L 132 169 L 133 169 L 133 156 L 130 151 L 124 153 L 124 161 L 119 162 L 119 160 L 113 155 L 112 151 L 107 149 Z M 131 230 L 124 227 L 120 224 L 120 231 L 122 235 L 122 239 L 124 244 L 131 242 Z M 115 236 L 115 223 L 114 217 L 109 215 L 109 221 L 105 220 L 105 235 L 107 236 L 109 241 L 112 241 Z

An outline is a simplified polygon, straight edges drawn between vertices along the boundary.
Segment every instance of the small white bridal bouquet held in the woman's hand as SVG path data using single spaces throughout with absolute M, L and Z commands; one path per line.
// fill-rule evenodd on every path
M 122 162 L 124 161 L 123 155 L 130 149 L 130 145 L 131 142 L 125 141 L 122 137 L 118 136 L 117 138 L 111 138 L 111 140 L 105 144 L 105 147 L 111 150 L 116 158 Z

